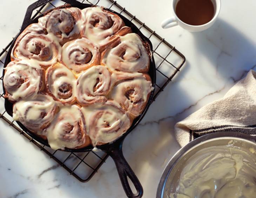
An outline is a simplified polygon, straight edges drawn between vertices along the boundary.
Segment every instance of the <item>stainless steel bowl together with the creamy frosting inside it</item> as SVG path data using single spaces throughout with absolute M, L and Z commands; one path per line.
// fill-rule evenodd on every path
M 180 149 L 161 177 L 157 198 L 256 197 L 255 138 L 204 135 Z

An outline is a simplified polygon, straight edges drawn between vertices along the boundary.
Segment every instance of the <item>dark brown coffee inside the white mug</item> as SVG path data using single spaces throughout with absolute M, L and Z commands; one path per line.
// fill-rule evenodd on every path
M 211 0 L 179 0 L 175 12 L 184 23 L 200 26 L 214 17 L 214 5 Z

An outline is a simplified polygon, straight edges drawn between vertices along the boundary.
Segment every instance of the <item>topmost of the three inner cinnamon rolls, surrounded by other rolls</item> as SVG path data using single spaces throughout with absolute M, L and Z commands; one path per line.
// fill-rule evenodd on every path
M 100 63 L 100 52 L 86 38 L 76 39 L 63 45 L 60 61 L 67 68 L 81 72 Z

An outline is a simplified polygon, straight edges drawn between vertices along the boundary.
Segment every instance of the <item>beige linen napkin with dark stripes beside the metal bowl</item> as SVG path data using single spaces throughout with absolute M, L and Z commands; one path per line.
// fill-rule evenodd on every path
M 181 146 L 196 137 L 219 131 L 256 136 L 256 72 L 236 83 L 222 99 L 202 107 L 176 123 L 175 135 Z

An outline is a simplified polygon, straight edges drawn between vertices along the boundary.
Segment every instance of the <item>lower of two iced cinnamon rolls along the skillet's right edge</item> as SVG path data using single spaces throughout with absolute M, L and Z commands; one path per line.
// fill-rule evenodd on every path
M 150 76 L 141 74 L 141 77 L 121 80 L 117 83 L 110 98 L 118 102 L 125 111 L 137 117 L 147 105 L 152 90 Z

